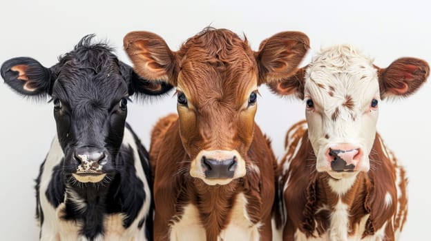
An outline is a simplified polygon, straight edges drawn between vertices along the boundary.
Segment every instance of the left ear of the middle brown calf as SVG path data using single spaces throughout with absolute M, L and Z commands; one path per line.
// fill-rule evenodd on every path
M 151 32 L 129 32 L 123 43 L 137 74 L 149 81 L 176 85 L 175 53 L 160 36 Z

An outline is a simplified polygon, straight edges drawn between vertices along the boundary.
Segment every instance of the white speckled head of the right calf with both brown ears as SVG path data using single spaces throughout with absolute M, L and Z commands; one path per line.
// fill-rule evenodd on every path
M 305 101 L 317 171 L 334 178 L 368 171 L 381 99 L 405 97 L 425 82 L 425 61 L 402 58 L 381 69 L 348 45 L 323 50 L 271 89 Z

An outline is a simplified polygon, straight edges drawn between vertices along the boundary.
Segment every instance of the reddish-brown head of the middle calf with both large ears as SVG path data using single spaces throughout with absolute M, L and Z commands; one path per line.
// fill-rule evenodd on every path
M 131 32 L 124 48 L 142 77 L 177 87 L 180 137 L 190 175 L 207 185 L 245 176 L 258 85 L 290 76 L 308 49 L 300 32 L 280 32 L 253 52 L 229 30 L 207 28 L 173 52 L 151 32 Z M 173 157 L 175 158 L 175 157 Z

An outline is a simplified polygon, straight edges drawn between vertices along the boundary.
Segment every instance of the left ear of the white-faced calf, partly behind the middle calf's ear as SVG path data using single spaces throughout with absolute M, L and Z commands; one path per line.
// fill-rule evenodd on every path
M 289 96 L 294 94 L 297 98 L 304 98 L 304 85 L 305 85 L 305 70 L 307 66 L 301 67 L 296 70 L 296 73 L 282 81 L 267 83 L 269 89 L 275 94 L 281 96 Z

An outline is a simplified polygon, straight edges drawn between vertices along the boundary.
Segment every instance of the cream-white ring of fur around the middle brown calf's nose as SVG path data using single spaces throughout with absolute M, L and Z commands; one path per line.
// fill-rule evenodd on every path
M 220 179 L 209 179 L 206 178 L 204 169 L 202 167 L 202 157 L 205 156 L 208 159 L 214 160 L 227 160 L 229 158 L 236 157 L 236 169 L 233 174 L 233 178 L 220 178 Z M 202 179 L 207 185 L 227 185 L 233 179 L 242 178 L 246 174 L 245 160 L 242 159 L 241 155 L 236 150 L 215 150 L 215 151 L 200 151 L 198 156 L 190 164 L 190 176 L 193 178 Z

